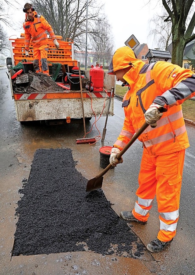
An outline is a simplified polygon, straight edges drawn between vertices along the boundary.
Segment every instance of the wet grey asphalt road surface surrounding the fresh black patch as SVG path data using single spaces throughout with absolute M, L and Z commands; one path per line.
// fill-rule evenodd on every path
M 121 101 L 115 99 L 115 115 L 108 118 L 105 142 L 99 141 L 94 146 L 76 145 L 76 138 L 82 138 L 82 124 L 67 125 L 21 125 L 16 121 L 14 101 L 11 99 L 9 81 L 5 69 L 0 70 L 0 274 L 194 274 L 194 171 L 195 171 L 195 129 L 186 125 L 190 148 L 186 150 L 183 173 L 183 185 L 180 200 L 180 218 L 174 241 L 164 252 L 145 253 L 143 259 L 102 256 L 93 252 L 67 252 L 49 255 L 14 256 L 11 251 L 16 231 L 17 217 L 15 210 L 21 198 L 18 190 L 22 181 L 30 174 L 34 153 L 37 149 L 70 148 L 76 169 L 83 177 L 94 178 L 100 171 L 101 146 L 112 146 L 123 123 Z M 94 119 L 87 123 L 90 130 Z M 102 132 L 105 117 L 97 126 Z M 90 136 L 96 136 L 93 128 Z M 137 176 L 139 172 L 142 144 L 136 141 L 124 154 L 123 164 L 111 169 L 104 176 L 103 191 L 112 203 L 113 210 L 132 209 L 136 200 Z M 147 245 L 158 233 L 159 220 L 157 205 L 154 203 L 147 225 L 133 224 L 132 230 Z

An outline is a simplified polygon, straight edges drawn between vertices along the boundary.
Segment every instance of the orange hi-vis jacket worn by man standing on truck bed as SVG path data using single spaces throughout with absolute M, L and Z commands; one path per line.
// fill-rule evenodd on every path
M 48 31 L 51 39 L 56 39 L 52 27 L 42 15 L 38 15 L 37 12 L 33 12 L 32 20 L 26 20 L 23 23 L 25 34 L 25 50 L 29 50 L 30 39 L 34 47 L 40 47 L 48 44 L 48 37 L 46 30 Z

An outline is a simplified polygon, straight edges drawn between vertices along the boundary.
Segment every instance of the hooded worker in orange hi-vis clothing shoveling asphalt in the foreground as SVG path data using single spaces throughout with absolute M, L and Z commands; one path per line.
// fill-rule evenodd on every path
M 149 124 L 139 137 L 143 156 L 137 201 L 120 217 L 146 224 L 156 195 L 160 230 L 147 249 L 159 252 L 176 235 L 185 149 L 190 146 L 181 104 L 195 95 L 195 75 L 169 62 L 145 64 L 127 46 L 115 51 L 108 74 L 129 86 L 122 103 L 124 124 L 110 156 L 113 166 L 122 163 L 116 156 L 135 132 Z

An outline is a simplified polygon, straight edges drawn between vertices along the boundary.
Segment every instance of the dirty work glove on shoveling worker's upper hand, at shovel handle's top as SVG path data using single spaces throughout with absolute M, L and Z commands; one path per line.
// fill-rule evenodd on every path
M 162 116 L 162 111 L 165 108 L 161 105 L 152 103 L 150 107 L 147 109 L 147 111 L 144 114 L 145 120 L 147 124 L 151 125 L 152 128 L 155 128 L 157 126 L 157 120 L 159 120 Z M 161 110 L 161 112 L 160 112 Z

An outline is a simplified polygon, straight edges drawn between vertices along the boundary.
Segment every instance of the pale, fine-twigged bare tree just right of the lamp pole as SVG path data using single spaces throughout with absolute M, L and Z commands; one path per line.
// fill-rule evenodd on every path
M 96 52 L 96 60 L 101 65 L 105 66 L 110 63 L 113 55 L 113 35 L 112 28 L 108 20 L 99 20 L 93 30 L 92 47 Z

